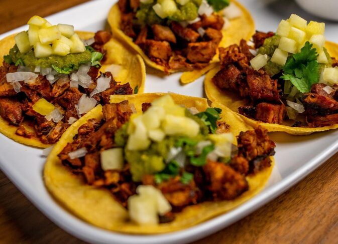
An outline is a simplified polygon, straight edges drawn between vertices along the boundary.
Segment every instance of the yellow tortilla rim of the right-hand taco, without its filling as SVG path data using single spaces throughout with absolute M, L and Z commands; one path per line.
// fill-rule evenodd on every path
M 326 42 L 325 48 L 327 49 L 328 53 L 331 57 L 338 57 L 338 45 L 332 42 Z M 280 124 L 270 124 L 270 123 L 263 123 L 244 115 L 238 113 L 238 108 L 242 105 L 245 105 L 245 101 L 241 99 L 234 92 L 222 91 L 220 90 L 213 82 L 212 77 L 219 71 L 219 66 L 210 70 L 207 75 L 205 76 L 204 80 L 204 90 L 207 98 L 212 102 L 217 102 L 223 106 L 227 106 L 232 111 L 236 112 L 236 114 L 243 119 L 245 123 L 248 125 L 256 128 L 258 126 L 262 126 L 266 128 L 269 132 L 286 132 L 290 135 L 309 135 L 314 132 L 320 131 L 327 131 L 332 129 L 337 129 L 338 124 L 330 125 L 330 126 L 323 126 L 323 127 L 291 127 L 287 125 L 280 125 Z

